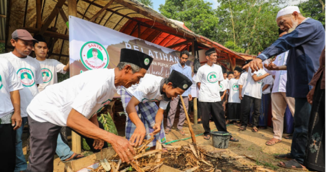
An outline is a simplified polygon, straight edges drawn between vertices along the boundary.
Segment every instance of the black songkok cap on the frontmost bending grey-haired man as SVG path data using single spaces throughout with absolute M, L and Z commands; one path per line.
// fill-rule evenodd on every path
M 138 52 L 127 48 L 122 48 L 120 50 L 120 62 L 132 63 L 148 70 L 152 61 L 153 58 L 143 52 Z

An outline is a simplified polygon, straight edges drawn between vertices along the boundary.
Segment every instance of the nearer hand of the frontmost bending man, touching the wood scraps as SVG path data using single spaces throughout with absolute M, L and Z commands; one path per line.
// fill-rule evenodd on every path
M 130 143 L 127 139 L 122 138 L 120 136 L 115 136 L 114 142 L 109 142 L 113 147 L 114 151 L 120 156 L 120 160 L 122 162 L 134 162 L 134 156 L 136 155 L 136 151 L 134 151 L 134 147 L 132 147 L 132 143 Z

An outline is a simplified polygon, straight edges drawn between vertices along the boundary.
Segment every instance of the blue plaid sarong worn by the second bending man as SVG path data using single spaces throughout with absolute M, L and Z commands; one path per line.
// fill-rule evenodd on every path
M 122 100 L 122 105 L 125 111 L 125 116 L 127 116 L 127 120 L 125 122 L 125 138 L 129 140 L 131 136 L 134 134 L 134 130 L 136 129 L 136 125 L 134 125 L 134 122 L 132 122 L 127 114 L 127 104 L 131 100 L 132 95 L 127 92 L 125 87 L 120 87 L 120 98 Z M 147 102 L 147 103 L 139 103 L 138 106 L 136 106 L 137 114 L 142 121 L 142 123 L 145 125 L 146 128 L 146 136 L 145 139 L 151 138 L 149 135 L 154 131 L 153 126 L 155 125 L 155 117 L 156 113 L 158 112 L 158 106 L 155 102 Z M 161 143 L 166 142 L 165 133 L 164 133 L 164 127 L 163 127 L 163 120 L 161 123 L 161 131 L 156 134 L 154 140 L 149 143 L 148 147 L 156 146 L 156 140 L 158 140 Z

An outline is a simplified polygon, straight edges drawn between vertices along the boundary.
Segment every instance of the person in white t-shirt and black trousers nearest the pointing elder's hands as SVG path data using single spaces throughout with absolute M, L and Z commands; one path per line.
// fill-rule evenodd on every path
M 262 63 L 260 63 L 259 65 L 263 67 Z M 270 74 L 268 74 L 264 69 L 260 69 L 256 72 L 251 72 L 251 69 L 248 69 L 247 82 L 246 85 L 244 85 L 244 98 L 242 98 L 242 102 L 244 103 L 244 107 L 242 109 L 242 127 L 239 127 L 239 130 L 246 130 L 250 114 L 250 107 L 254 103 L 252 131 L 259 131 L 259 129 L 257 129 L 257 123 L 259 122 L 259 108 L 261 107 L 261 85 L 262 80 L 268 75 Z

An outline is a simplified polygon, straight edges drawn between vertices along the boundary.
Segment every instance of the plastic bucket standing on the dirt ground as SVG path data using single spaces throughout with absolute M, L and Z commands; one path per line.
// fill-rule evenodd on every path
M 226 131 L 211 131 L 211 138 L 215 148 L 227 149 L 228 142 L 231 138 L 231 133 Z

